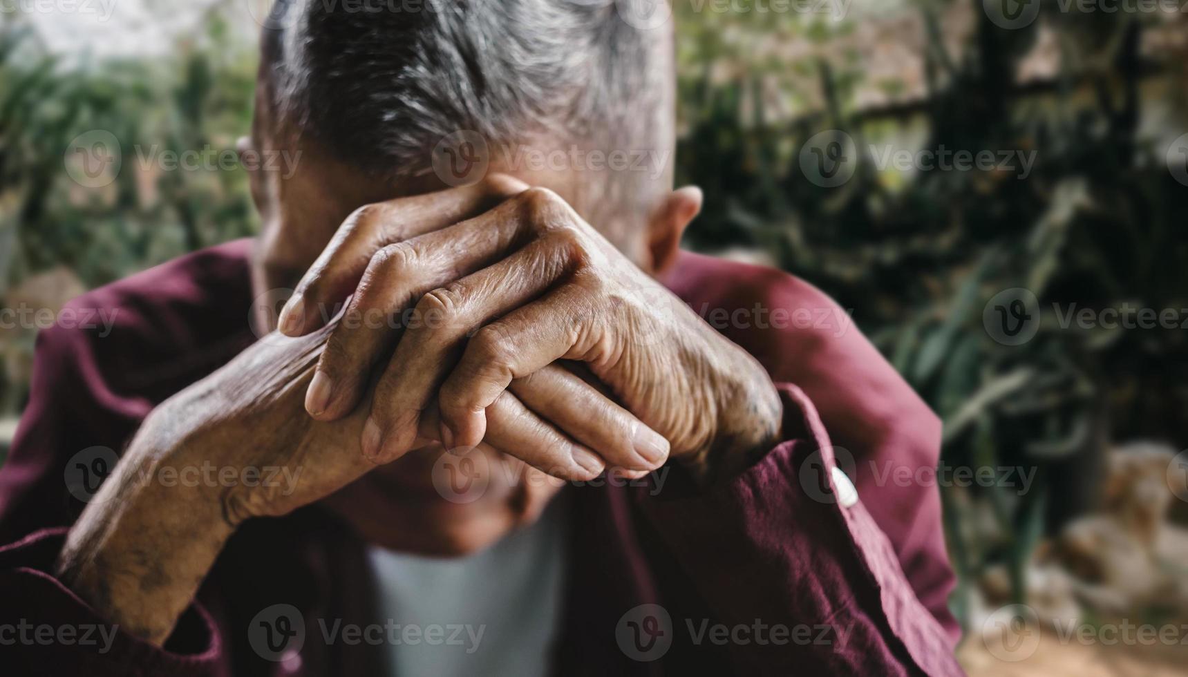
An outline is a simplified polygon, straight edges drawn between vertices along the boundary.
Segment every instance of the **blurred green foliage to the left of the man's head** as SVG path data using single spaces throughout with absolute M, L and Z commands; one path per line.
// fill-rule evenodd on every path
M 19 19 L 0 25 L 0 298 L 50 268 L 94 287 L 257 230 L 242 169 L 141 171 L 152 153 L 234 148 L 251 122 L 253 45 L 211 15 L 170 58 L 62 57 Z M 67 171 L 71 141 L 91 131 L 114 134 L 122 157 L 101 189 Z M 0 353 L 27 361 L 32 341 L 11 333 Z M 0 379 L 0 418 L 21 406 L 21 372 Z

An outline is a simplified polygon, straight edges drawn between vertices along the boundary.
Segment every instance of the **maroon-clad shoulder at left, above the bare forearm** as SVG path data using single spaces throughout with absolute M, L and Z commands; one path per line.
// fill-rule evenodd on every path
M 30 398 L 0 468 L 0 540 L 74 521 L 82 504 L 65 494 L 68 461 L 122 450 L 152 407 L 251 343 L 249 246 L 228 242 L 87 292 L 38 334 Z

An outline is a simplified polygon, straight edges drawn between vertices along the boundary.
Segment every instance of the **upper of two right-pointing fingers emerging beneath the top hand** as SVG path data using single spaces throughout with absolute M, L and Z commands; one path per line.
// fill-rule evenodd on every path
M 513 380 L 508 390 L 529 410 L 609 464 L 646 473 L 668 458 L 668 441 L 663 436 L 556 363 Z

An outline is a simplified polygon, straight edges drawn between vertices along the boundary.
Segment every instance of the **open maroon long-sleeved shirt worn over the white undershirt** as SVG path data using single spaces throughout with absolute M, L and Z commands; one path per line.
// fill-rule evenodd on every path
M 84 507 L 67 491 L 68 460 L 95 445 L 122 450 L 153 406 L 254 341 L 251 246 L 206 249 L 71 302 L 118 310 L 106 337 L 61 327 L 38 337 L 32 399 L 0 469 L 0 672 L 385 673 L 387 647 L 323 640 L 318 619 L 383 620 L 367 544 L 317 506 L 242 525 L 165 648 L 110 628 L 52 575 Z M 665 284 L 765 366 L 785 439 L 704 492 L 680 470 L 656 495 L 565 489 L 573 529 L 555 673 L 960 675 L 936 488 L 886 480 L 889 468 L 936 464 L 937 418 L 802 280 L 682 254 Z M 851 507 L 834 498 L 835 456 L 861 499 Z M 305 638 L 271 662 L 249 626 L 277 603 L 297 609 Z M 669 618 L 637 608 L 645 603 Z M 750 634 L 757 622 L 769 629 Z M 109 644 L 96 625 L 114 633 Z M 751 640 L 722 643 L 719 625 Z

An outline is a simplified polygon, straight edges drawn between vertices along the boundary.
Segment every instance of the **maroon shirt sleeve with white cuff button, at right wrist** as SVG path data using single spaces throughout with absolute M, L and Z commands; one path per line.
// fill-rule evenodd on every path
M 734 671 L 961 675 L 949 634 L 838 474 L 813 404 L 794 385 L 777 388 L 785 439 L 754 466 L 700 492 L 634 494 L 716 622 L 784 628 L 731 643 Z

